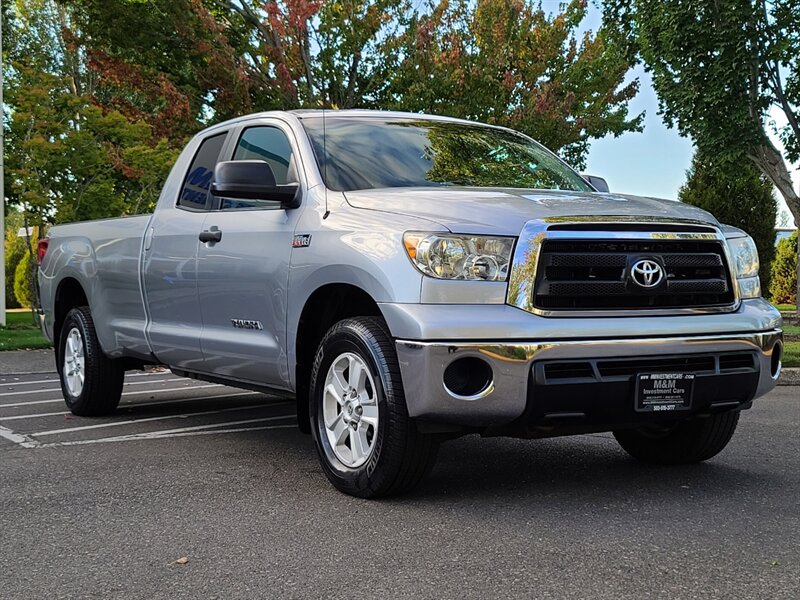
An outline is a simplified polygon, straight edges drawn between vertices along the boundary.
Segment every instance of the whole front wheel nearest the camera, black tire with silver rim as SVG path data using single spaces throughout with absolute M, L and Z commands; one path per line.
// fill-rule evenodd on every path
M 360 393 L 347 394 L 347 386 Z M 345 494 L 401 494 L 436 461 L 438 440 L 408 416 L 394 341 L 380 318 L 345 319 L 328 330 L 311 372 L 310 412 L 322 470 Z

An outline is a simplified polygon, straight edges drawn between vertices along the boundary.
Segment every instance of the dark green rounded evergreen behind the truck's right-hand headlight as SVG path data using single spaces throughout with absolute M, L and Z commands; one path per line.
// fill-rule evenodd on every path
M 774 186 L 755 165 L 717 165 L 713 158 L 695 153 L 678 199 L 709 211 L 721 223 L 743 229 L 753 238 L 761 259 L 761 289 L 766 292 L 775 255 L 777 202 Z

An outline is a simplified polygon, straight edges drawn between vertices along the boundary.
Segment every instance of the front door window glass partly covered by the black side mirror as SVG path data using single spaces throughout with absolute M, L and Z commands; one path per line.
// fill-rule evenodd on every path
M 297 174 L 294 167 L 292 146 L 277 127 L 250 127 L 245 129 L 236 150 L 233 160 L 263 160 L 269 163 L 275 175 L 275 183 L 285 185 L 295 183 Z M 237 208 L 276 208 L 280 202 L 274 200 L 238 200 L 222 198 L 220 208 L 231 210 Z

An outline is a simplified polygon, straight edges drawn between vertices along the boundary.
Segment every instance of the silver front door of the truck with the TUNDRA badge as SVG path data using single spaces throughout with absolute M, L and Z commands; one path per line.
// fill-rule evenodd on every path
M 232 160 L 265 160 L 278 184 L 305 180 L 296 165 L 291 129 L 278 120 L 248 123 L 235 132 Z M 197 279 L 206 372 L 289 387 L 286 298 L 289 259 L 302 211 L 277 202 L 216 198 L 204 230 L 218 242 L 201 243 Z

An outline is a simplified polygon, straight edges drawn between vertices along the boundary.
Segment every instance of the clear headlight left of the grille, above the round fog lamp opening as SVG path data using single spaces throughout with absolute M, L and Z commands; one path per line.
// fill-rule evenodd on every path
M 514 238 L 407 232 L 411 262 L 437 279 L 505 281 Z

